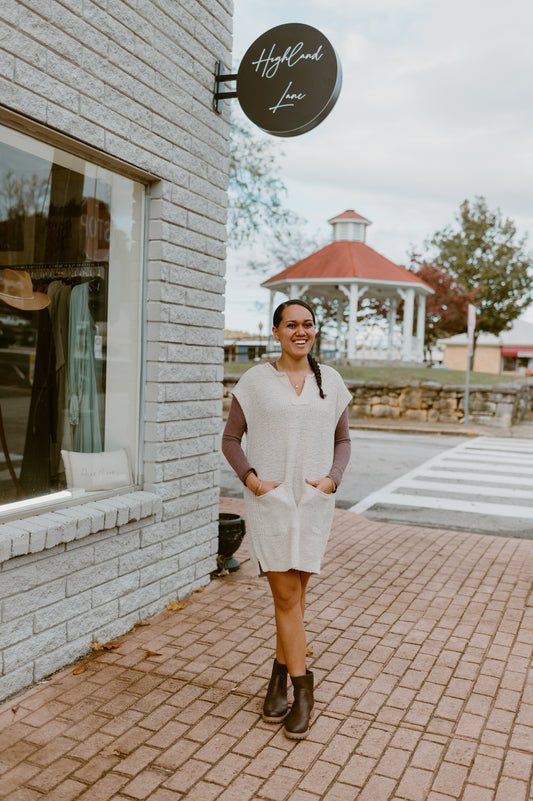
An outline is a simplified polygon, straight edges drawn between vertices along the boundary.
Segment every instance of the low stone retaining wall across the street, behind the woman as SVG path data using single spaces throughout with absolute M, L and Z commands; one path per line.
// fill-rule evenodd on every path
M 230 394 L 239 376 L 225 376 L 224 405 L 229 407 Z M 352 419 L 384 418 L 413 422 L 461 423 L 464 420 L 465 388 L 463 385 L 425 382 L 384 384 L 370 381 L 348 381 L 352 393 Z M 531 410 L 532 393 L 528 384 L 513 382 L 496 387 L 470 388 L 469 420 L 473 423 L 506 427 L 524 420 Z

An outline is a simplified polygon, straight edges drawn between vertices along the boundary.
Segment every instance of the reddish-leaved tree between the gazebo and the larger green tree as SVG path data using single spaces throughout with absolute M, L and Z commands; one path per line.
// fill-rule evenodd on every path
M 465 330 L 468 305 L 475 304 L 477 290 L 467 292 L 456 279 L 436 264 L 411 255 L 410 270 L 429 284 L 433 295 L 426 298 L 425 350 L 431 353 L 437 340 Z

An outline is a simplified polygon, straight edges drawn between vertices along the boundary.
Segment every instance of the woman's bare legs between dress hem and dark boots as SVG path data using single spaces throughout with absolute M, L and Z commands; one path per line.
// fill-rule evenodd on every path
M 298 570 L 268 572 L 276 615 L 276 659 L 291 676 L 305 675 L 305 592 L 311 574 Z

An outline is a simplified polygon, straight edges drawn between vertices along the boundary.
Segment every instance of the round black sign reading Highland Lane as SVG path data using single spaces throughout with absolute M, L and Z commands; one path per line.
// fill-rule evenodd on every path
M 246 116 L 266 133 L 298 136 L 315 128 L 339 96 L 342 70 L 326 37 L 290 23 L 264 33 L 248 48 L 237 77 Z

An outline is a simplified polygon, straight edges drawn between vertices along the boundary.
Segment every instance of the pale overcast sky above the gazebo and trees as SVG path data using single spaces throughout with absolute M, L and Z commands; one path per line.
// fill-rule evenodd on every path
M 272 137 L 287 205 L 312 232 L 329 238 L 326 221 L 355 209 L 373 222 L 367 244 L 405 264 L 465 198 L 483 195 L 533 249 L 531 0 L 235 0 L 233 68 L 287 22 L 321 30 L 343 69 L 324 122 Z M 270 327 L 260 280 L 229 254 L 227 328 Z

